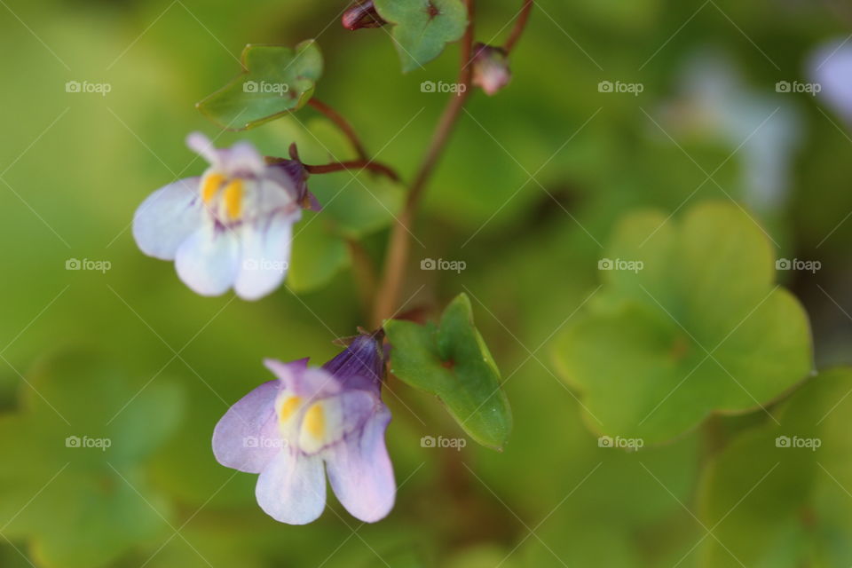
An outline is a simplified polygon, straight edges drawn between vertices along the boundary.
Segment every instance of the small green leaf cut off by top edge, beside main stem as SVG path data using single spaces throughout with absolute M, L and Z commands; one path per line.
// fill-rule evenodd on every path
M 438 57 L 468 27 L 461 0 L 375 0 L 375 9 L 393 24 L 391 35 L 405 73 Z

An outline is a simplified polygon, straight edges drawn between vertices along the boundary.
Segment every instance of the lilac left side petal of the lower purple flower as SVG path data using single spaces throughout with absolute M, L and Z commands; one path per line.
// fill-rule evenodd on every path
M 249 392 L 228 409 L 213 430 L 213 454 L 226 468 L 260 473 L 283 447 L 276 429 L 279 381 Z

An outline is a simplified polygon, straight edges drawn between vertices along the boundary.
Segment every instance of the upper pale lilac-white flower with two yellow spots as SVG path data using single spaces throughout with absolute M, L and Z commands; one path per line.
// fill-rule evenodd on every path
M 162 187 L 139 206 L 133 218 L 138 247 L 174 260 L 177 275 L 201 296 L 229 288 L 246 300 L 269 294 L 284 279 L 293 224 L 311 202 L 301 164 L 268 165 L 248 142 L 217 149 L 198 132 L 186 144 L 209 168 Z

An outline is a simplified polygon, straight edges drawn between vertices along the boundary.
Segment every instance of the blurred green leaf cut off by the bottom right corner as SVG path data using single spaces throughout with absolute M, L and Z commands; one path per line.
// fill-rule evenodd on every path
M 714 527 L 698 566 L 852 564 L 852 369 L 809 380 L 714 457 L 698 490 L 698 516 Z

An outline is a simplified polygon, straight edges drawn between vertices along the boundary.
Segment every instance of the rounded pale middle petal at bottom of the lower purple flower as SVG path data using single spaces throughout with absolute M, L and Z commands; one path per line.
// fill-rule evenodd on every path
M 326 506 L 326 477 L 319 456 L 284 449 L 257 477 L 257 504 L 276 521 L 305 525 Z

